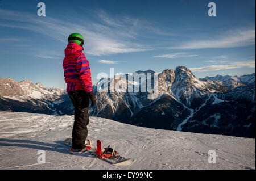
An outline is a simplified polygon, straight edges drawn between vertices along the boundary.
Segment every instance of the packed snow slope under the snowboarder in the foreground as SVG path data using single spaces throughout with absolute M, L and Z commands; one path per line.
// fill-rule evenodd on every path
M 73 116 L 0 112 L 0 169 L 255 169 L 255 139 L 151 129 L 90 117 L 88 138 L 115 145 L 130 166 L 113 166 L 92 155 L 71 155 Z M 38 150 L 46 163 L 38 163 Z M 208 163 L 215 150 L 216 163 Z

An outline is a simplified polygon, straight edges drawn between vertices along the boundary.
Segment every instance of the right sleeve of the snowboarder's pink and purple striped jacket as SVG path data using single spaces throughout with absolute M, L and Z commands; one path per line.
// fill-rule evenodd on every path
M 90 77 L 90 65 L 89 61 L 86 59 L 84 53 L 81 53 L 77 57 L 77 72 L 79 73 L 79 79 L 84 86 L 86 92 L 92 92 L 92 78 Z

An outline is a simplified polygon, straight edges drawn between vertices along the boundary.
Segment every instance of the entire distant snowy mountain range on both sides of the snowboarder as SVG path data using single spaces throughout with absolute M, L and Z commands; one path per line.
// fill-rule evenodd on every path
M 101 79 L 93 86 L 97 104 L 90 108 L 90 116 L 141 127 L 255 137 L 255 73 L 197 79 L 189 69 L 178 66 L 158 73 L 159 94 L 154 99 L 147 98 L 150 92 L 97 91 L 100 83 L 107 82 L 109 87 L 117 81 L 141 90 L 142 79 L 136 82 L 127 77 Z M 0 110 L 73 113 L 64 90 L 47 89 L 40 83 L 0 78 L 0 95 Z

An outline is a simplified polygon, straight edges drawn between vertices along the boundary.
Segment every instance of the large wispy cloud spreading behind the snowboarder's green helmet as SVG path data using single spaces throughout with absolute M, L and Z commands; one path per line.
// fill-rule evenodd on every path
M 2 27 L 25 28 L 30 31 L 42 33 L 55 40 L 67 43 L 67 36 L 72 32 L 80 32 L 85 37 L 85 50 L 94 56 L 142 52 L 151 50 L 150 45 L 143 45 L 134 41 L 142 31 L 137 20 L 130 18 L 122 21 L 123 17 L 112 18 L 105 11 L 98 11 L 98 19 L 59 20 L 45 16 L 43 19 L 27 12 L 9 11 L 0 9 L 0 19 L 9 20 L 9 23 L 0 24 Z M 101 21 L 100 21 L 100 20 Z M 127 19 L 127 18 L 126 18 Z M 83 26 L 82 24 L 85 24 Z

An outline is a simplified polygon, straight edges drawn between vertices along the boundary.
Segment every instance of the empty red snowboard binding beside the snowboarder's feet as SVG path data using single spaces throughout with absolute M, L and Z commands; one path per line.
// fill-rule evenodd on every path
M 111 159 L 113 157 L 117 157 L 118 156 L 118 152 L 115 151 L 115 146 L 114 146 L 114 148 L 110 148 L 110 146 L 108 146 L 107 148 L 101 149 L 101 141 L 97 140 L 96 155 L 99 158 Z

